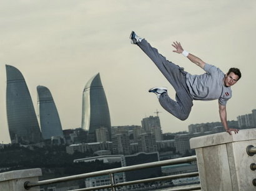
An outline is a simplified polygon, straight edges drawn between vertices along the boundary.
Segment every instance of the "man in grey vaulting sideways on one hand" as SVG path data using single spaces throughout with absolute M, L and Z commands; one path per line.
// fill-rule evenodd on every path
M 189 117 L 193 100 L 219 100 L 219 115 L 220 120 L 227 133 L 231 134 L 234 131 L 238 133 L 238 129 L 229 128 L 227 125 L 227 101 L 232 96 L 231 86 L 237 83 L 241 78 L 241 73 L 238 68 L 230 68 L 225 75 L 219 68 L 205 63 L 195 55 L 185 51 L 179 42 L 174 42 L 172 46 L 176 49 L 173 52 L 182 54 L 206 73 L 202 75 L 191 75 L 184 71 L 184 68 L 169 62 L 164 56 L 159 54 L 158 50 L 140 38 L 134 31 L 130 34 L 132 44 L 137 44 L 145 54 L 155 63 L 165 78 L 170 82 L 176 91 L 175 100 L 172 100 L 167 95 L 167 88 L 155 87 L 149 92 L 153 92 L 159 98 L 160 105 L 169 113 L 173 114 L 180 120 L 185 120 Z

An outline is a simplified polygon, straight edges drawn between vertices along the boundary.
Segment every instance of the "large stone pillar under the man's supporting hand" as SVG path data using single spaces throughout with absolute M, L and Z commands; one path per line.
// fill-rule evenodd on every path
M 252 183 L 256 171 L 256 154 L 249 156 L 247 146 L 256 146 L 256 129 L 243 129 L 238 134 L 210 134 L 190 139 L 195 149 L 202 190 L 249 191 L 256 190 Z

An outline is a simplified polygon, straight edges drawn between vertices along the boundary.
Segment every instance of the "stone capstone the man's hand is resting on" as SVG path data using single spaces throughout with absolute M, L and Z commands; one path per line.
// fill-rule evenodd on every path
M 216 133 L 206 136 L 194 137 L 190 139 L 190 148 L 196 149 L 200 147 L 215 146 L 218 144 L 225 144 L 229 142 L 237 141 L 249 141 L 256 138 L 256 129 L 242 129 L 238 134 L 232 131 L 232 135 L 229 133 Z

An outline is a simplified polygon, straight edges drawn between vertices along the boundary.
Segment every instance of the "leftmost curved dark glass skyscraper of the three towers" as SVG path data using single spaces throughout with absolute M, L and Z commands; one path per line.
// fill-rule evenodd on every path
M 6 78 L 6 111 L 11 142 L 40 142 L 41 132 L 24 77 L 17 68 L 6 65 Z

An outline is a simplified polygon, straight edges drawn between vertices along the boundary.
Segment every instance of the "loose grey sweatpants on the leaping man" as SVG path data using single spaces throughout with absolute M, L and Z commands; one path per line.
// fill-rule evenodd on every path
M 172 100 L 167 93 L 162 93 L 159 98 L 160 105 L 176 118 L 182 121 L 187 119 L 193 106 L 193 98 L 186 84 L 187 72 L 184 71 L 184 68 L 166 60 L 157 49 L 151 47 L 147 40 L 143 39 L 137 45 L 155 63 L 176 91 L 176 101 Z

